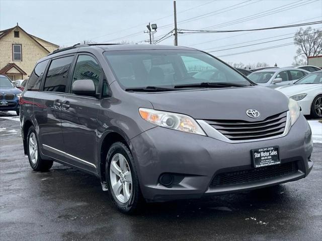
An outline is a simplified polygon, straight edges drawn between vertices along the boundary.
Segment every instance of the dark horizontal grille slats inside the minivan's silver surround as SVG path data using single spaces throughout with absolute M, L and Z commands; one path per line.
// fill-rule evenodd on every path
M 284 133 L 286 112 L 272 115 L 261 122 L 205 120 L 210 126 L 232 141 L 254 140 Z

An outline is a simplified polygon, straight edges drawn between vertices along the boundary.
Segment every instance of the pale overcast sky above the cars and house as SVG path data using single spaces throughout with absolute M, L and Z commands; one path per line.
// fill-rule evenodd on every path
M 178 0 L 177 13 L 178 29 L 254 29 L 321 21 L 322 0 Z M 143 31 L 148 22 L 158 26 L 156 39 L 174 29 L 173 1 L 0 0 L 0 29 L 14 27 L 17 22 L 28 33 L 57 45 L 68 46 L 84 40 L 98 43 L 144 43 L 148 34 Z M 312 27 L 321 29 L 322 25 Z M 217 51 L 292 37 L 297 29 L 298 27 L 242 33 L 180 34 L 178 40 L 182 46 Z M 269 65 L 277 63 L 282 67 L 293 62 L 296 51 L 294 45 L 236 53 L 292 42 L 292 38 L 289 38 L 212 54 L 221 56 L 226 62 L 266 62 Z M 174 37 L 171 36 L 161 44 L 173 43 Z M 229 54 L 234 55 L 224 56 Z

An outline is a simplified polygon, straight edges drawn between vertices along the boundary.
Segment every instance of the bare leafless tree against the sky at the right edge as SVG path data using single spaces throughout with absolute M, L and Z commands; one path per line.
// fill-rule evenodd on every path
M 322 31 L 311 27 L 305 30 L 300 28 L 294 36 L 294 44 L 298 48 L 293 64 L 302 64 L 303 60 L 306 62 L 305 64 L 308 64 L 308 57 L 322 53 Z

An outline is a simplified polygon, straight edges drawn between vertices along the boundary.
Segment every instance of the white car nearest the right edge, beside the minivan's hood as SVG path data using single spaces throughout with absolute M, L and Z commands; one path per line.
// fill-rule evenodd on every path
M 310 73 L 294 84 L 278 87 L 276 90 L 296 100 L 303 114 L 322 118 L 322 70 Z

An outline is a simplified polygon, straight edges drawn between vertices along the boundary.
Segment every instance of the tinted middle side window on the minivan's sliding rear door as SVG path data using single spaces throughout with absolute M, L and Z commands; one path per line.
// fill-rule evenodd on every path
M 65 92 L 68 71 L 73 57 L 68 56 L 51 61 L 45 80 L 44 91 Z

